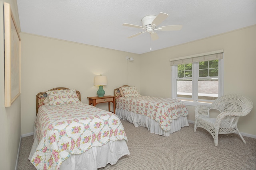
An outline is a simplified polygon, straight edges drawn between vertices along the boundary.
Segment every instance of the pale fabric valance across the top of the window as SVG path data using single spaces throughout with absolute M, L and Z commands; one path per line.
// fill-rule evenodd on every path
M 188 64 L 188 63 L 195 63 L 195 62 L 201 62 L 201 61 L 219 60 L 219 59 L 223 59 L 223 52 L 224 50 L 218 50 L 218 51 L 212 51 L 208 53 L 201 53 L 196 55 L 174 58 L 174 59 L 170 59 L 170 63 L 172 66 L 177 64 Z

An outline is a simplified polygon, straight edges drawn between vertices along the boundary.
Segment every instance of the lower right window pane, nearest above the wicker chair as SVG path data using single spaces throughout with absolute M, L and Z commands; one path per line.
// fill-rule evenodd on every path
M 198 80 L 198 99 L 215 100 L 218 98 L 218 80 Z

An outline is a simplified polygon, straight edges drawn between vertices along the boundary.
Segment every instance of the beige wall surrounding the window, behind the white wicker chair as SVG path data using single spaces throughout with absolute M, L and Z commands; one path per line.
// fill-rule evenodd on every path
M 224 49 L 224 94 L 241 94 L 254 102 L 249 115 L 241 117 L 241 132 L 256 136 L 256 25 L 190 43 L 140 55 L 140 92 L 171 97 L 169 59 Z M 194 106 L 188 106 L 194 121 Z

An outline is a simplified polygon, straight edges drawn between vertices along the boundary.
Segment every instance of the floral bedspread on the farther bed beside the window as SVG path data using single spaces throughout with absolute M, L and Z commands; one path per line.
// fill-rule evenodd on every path
M 116 108 L 146 115 L 157 121 L 164 131 L 170 130 L 172 119 L 188 115 L 188 109 L 181 100 L 150 96 L 120 97 L 117 99 Z

